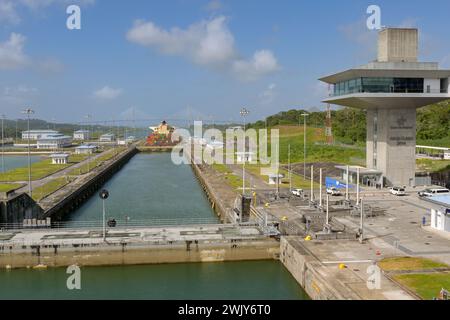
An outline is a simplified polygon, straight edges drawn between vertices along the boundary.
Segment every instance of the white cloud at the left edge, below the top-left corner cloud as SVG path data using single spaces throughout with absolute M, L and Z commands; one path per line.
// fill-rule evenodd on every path
M 26 38 L 18 33 L 11 33 L 9 40 L 0 43 L 0 70 L 18 69 L 29 63 L 23 52 Z

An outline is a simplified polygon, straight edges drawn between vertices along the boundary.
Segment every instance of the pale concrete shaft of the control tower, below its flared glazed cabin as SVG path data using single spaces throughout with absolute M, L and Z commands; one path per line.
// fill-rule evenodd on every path
M 367 167 L 389 177 L 388 186 L 415 185 L 415 146 L 415 109 L 368 110 Z

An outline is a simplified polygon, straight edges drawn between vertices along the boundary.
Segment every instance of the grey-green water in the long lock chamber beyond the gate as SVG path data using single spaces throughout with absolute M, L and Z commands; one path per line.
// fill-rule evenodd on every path
M 206 218 L 218 221 L 188 165 L 176 166 L 170 153 L 139 153 L 105 186 L 107 218 L 124 221 Z M 71 221 L 100 221 L 102 201 L 92 197 Z

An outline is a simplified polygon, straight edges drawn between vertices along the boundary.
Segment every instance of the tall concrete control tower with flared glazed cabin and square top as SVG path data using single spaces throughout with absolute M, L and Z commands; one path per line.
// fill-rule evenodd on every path
M 450 99 L 450 70 L 418 62 L 418 30 L 379 33 L 378 59 L 320 79 L 325 103 L 367 110 L 367 169 L 383 186 L 415 186 L 416 109 Z

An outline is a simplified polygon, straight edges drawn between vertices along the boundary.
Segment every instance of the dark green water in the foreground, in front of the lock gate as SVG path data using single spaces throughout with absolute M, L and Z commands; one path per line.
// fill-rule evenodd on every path
M 70 291 L 65 269 L 0 271 L 5 299 L 307 299 L 276 261 L 81 269 L 81 290 Z

